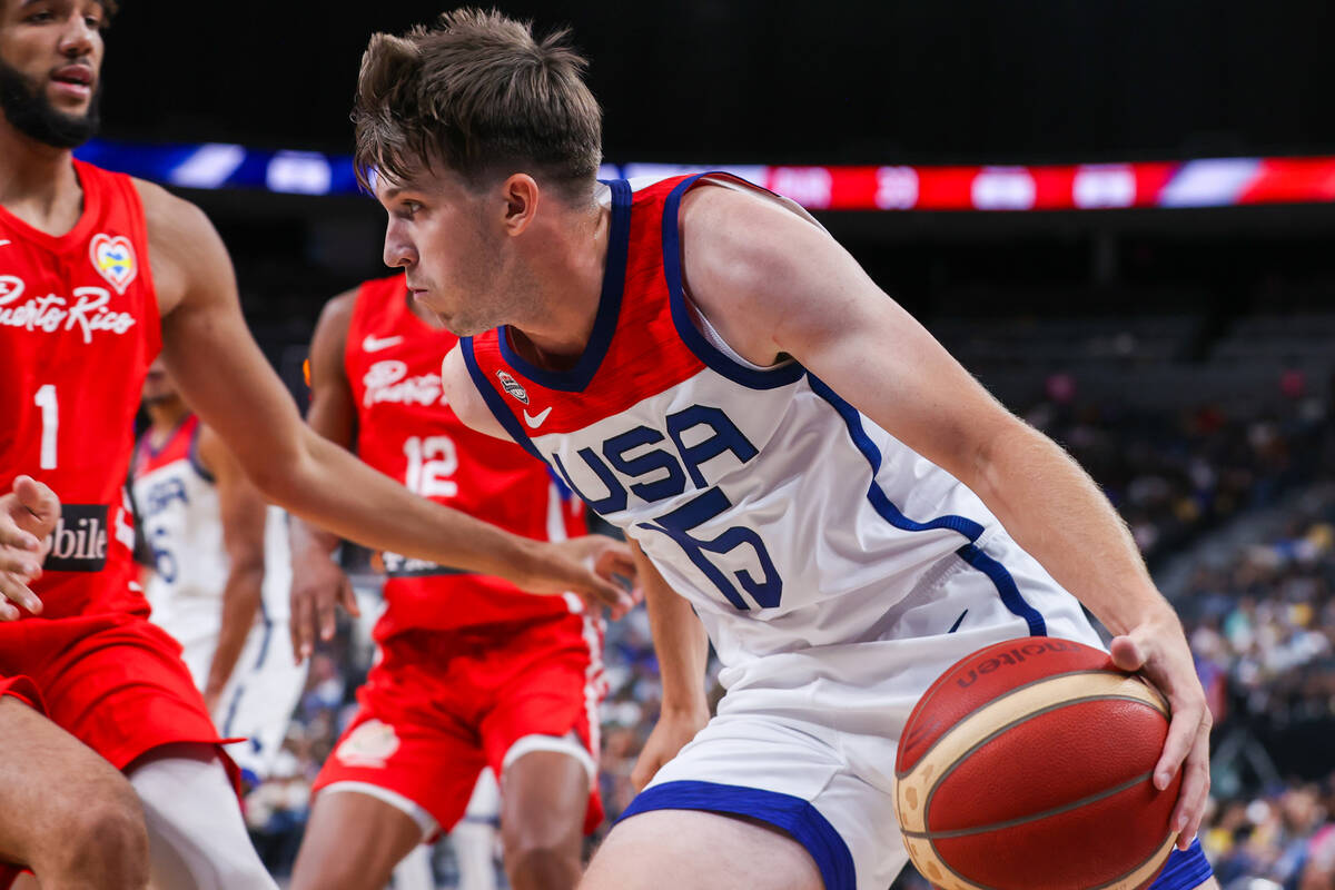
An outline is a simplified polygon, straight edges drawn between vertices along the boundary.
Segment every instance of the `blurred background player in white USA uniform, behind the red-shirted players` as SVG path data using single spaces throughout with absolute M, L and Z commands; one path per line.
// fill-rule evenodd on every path
M 287 515 L 264 503 L 222 439 L 156 359 L 144 378 L 150 426 L 131 491 L 152 554 L 154 622 L 182 644 L 218 731 L 255 785 L 268 774 L 306 682 L 287 630 Z

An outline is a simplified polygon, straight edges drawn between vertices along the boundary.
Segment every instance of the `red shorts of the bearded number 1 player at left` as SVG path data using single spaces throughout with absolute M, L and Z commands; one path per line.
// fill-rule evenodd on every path
M 117 770 L 163 745 L 222 742 L 180 644 L 138 615 L 0 623 L 0 695 L 41 711 Z M 0 863 L 0 890 L 16 875 Z

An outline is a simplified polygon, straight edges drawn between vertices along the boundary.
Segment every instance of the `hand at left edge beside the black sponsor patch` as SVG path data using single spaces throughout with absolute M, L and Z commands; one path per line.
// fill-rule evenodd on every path
M 19 619 L 16 606 L 33 615 L 41 611 L 28 584 L 41 576 L 59 520 L 60 499 L 31 476 L 16 478 L 13 490 L 0 495 L 0 620 Z

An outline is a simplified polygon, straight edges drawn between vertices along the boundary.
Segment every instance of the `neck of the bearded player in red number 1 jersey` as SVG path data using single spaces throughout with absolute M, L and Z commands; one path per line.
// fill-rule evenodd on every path
M 0 119 L 0 205 L 37 231 L 64 235 L 83 212 L 72 157 Z

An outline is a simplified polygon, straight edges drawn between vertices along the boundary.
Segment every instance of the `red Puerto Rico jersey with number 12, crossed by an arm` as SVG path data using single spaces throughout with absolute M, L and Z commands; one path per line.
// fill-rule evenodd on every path
M 475 432 L 445 400 L 441 360 L 458 338 L 409 307 L 403 276 L 362 284 L 344 367 L 356 403 L 358 455 L 414 492 L 542 540 L 586 532 L 583 504 L 523 448 Z M 376 639 L 570 612 L 579 600 L 535 596 L 487 575 L 383 554 L 384 616 Z

